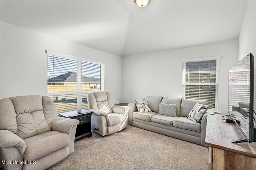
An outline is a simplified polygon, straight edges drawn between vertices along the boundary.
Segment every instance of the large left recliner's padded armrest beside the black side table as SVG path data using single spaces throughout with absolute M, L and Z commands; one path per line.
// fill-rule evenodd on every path
M 52 121 L 52 131 L 65 132 L 70 135 L 72 128 L 78 125 L 79 120 L 66 117 L 56 117 Z

